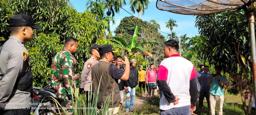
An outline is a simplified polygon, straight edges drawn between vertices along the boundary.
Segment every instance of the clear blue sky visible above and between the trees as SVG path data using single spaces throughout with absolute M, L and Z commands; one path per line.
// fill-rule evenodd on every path
M 123 8 L 126 11 L 129 11 L 132 13 L 130 10 L 130 5 L 129 5 L 130 0 L 126 0 L 126 5 L 123 6 Z M 150 4 L 148 5 L 148 9 L 145 11 L 145 14 L 141 16 L 141 19 L 143 21 L 150 21 L 152 19 L 156 20 L 158 24 L 160 24 L 160 28 L 162 32 L 165 33 L 171 33 L 171 30 L 166 28 L 165 22 L 167 22 L 170 18 L 174 19 L 177 21 L 178 27 L 174 27 L 173 31 L 176 32 L 178 35 L 178 32 L 180 32 L 180 35 L 183 34 L 188 34 L 188 37 L 193 37 L 195 35 L 198 35 L 198 29 L 195 27 L 195 19 L 196 16 L 191 16 L 191 15 L 182 15 L 182 14 L 175 14 L 167 11 L 161 11 L 156 8 L 156 0 L 149 0 Z M 85 4 L 87 3 L 87 0 L 70 0 L 70 3 L 73 4 L 74 8 L 78 12 L 83 12 L 86 10 Z M 120 20 L 122 20 L 126 16 L 131 16 L 129 13 L 127 13 L 123 9 L 120 10 Z M 132 13 L 133 14 L 133 13 Z M 138 16 L 138 13 L 135 12 L 133 14 L 134 16 Z M 119 24 L 119 17 L 118 13 L 115 13 L 115 20 L 116 24 L 112 25 L 110 24 L 110 29 L 112 31 L 112 34 L 114 34 L 114 30 Z M 161 32 L 160 32 L 161 33 Z M 161 33 L 166 37 L 166 34 Z

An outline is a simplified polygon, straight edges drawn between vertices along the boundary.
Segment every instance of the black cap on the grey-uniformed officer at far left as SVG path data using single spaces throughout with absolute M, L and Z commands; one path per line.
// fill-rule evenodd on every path
M 35 25 L 33 19 L 29 15 L 17 14 L 10 18 L 10 27 L 32 27 L 33 29 L 41 29 L 41 26 Z

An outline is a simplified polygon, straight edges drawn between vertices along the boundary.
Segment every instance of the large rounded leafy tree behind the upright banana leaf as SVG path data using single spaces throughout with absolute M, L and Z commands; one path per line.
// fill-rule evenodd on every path
M 143 60 L 141 60 L 141 62 L 137 62 L 138 65 L 146 63 L 154 63 L 156 66 L 159 65 L 160 62 L 164 59 L 163 46 L 166 39 L 162 34 L 157 31 L 157 25 L 149 23 L 147 21 L 141 22 L 139 19 L 133 17 L 125 17 L 121 20 L 120 24 L 114 31 L 116 33 L 116 37 L 123 38 L 125 43 L 130 43 L 136 26 L 139 27 L 136 44 L 153 55 L 152 57 L 144 55 Z M 143 42 L 147 41 L 155 41 L 159 42 L 159 44 L 142 44 Z M 132 54 L 135 54 L 137 51 L 139 50 L 135 50 Z M 136 58 L 136 56 L 134 58 Z

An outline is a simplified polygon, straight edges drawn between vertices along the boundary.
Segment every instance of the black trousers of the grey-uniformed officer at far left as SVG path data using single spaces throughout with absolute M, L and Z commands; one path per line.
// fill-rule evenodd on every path
M 15 110 L 2 110 L 2 115 L 30 115 L 31 108 L 29 109 L 15 109 Z

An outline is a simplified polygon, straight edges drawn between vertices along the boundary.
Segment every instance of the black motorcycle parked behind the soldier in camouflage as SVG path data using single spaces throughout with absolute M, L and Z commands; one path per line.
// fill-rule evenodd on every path
M 44 88 L 33 87 L 33 105 L 30 113 L 33 115 L 52 115 L 56 114 L 58 108 L 54 100 L 57 96 L 53 89 L 50 89 L 52 82 L 48 82 Z M 53 99 L 54 98 L 54 99 Z

